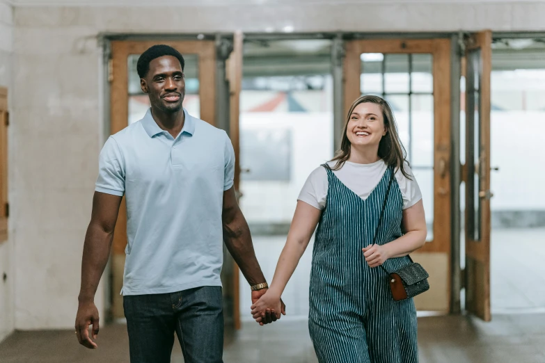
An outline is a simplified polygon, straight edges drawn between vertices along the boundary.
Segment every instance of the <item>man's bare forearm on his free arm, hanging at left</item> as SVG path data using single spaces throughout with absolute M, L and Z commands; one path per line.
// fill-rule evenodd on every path
M 113 231 L 106 232 L 100 225 L 89 225 L 81 259 L 80 302 L 94 300 L 100 277 L 108 263 L 112 240 Z

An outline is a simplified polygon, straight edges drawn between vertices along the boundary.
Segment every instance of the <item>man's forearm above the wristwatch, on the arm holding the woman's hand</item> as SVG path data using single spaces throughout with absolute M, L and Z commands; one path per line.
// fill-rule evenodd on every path
M 253 250 L 250 229 L 242 212 L 239 211 L 230 223 L 223 224 L 223 241 L 249 284 L 255 285 L 265 282 L 265 277 Z

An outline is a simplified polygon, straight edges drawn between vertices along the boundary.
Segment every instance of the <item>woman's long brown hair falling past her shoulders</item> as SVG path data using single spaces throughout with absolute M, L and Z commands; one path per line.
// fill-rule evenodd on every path
M 337 161 L 333 170 L 339 170 L 345 165 L 345 161 L 350 157 L 350 140 L 347 136 L 348 122 L 350 120 L 350 115 L 354 112 L 354 108 L 358 104 L 363 104 L 364 102 L 370 102 L 372 104 L 378 104 L 382 110 L 382 116 L 384 118 L 384 127 L 386 127 L 386 135 L 383 136 L 379 143 L 379 158 L 384 160 L 387 166 L 393 166 L 395 169 L 401 169 L 403 175 L 411 179 L 408 172 L 404 168 L 404 163 L 406 163 L 406 151 L 403 147 L 400 136 L 397 134 L 397 124 L 395 123 L 395 118 L 392 112 L 392 108 L 386 100 L 378 96 L 362 96 L 350 106 L 348 111 L 347 120 L 345 122 L 345 128 L 342 130 L 342 140 L 340 143 L 340 150 L 336 153 L 335 157 L 331 161 Z M 408 163 L 407 163 L 408 164 Z

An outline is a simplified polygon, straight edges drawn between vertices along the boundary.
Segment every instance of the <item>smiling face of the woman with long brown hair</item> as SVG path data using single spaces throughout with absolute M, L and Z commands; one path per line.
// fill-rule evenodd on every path
M 358 104 L 347 126 L 347 138 L 353 146 L 379 147 L 382 136 L 386 135 L 384 116 L 378 104 L 363 102 Z

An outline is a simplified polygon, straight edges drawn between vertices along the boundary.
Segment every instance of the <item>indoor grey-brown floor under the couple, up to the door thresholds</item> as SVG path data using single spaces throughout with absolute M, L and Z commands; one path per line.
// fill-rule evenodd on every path
M 0 362 L 129 362 L 124 325 L 106 326 L 99 335 L 99 348 L 88 350 L 79 346 L 72 330 L 15 332 L 0 344 Z M 418 341 L 421 363 L 543 363 L 545 314 L 498 315 L 491 323 L 464 316 L 419 318 Z M 223 360 L 225 363 L 317 362 L 306 321 L 286 318 L 263 327 L 244 323 L 239 332 L 227 333 Z M 183 362 L 177 340 L 172 361 Z

